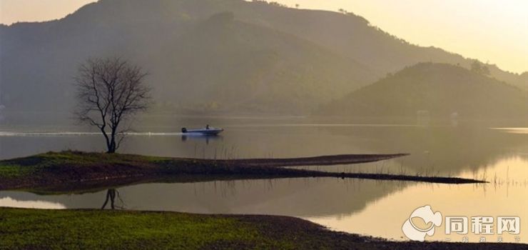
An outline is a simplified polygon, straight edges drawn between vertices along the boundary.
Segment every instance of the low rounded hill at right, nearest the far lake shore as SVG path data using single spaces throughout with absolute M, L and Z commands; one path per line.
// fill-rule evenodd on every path
M 528 114 L 521 89 L 451 64 L 420 63 L 323 107 L 345 116 L 516 118 Z

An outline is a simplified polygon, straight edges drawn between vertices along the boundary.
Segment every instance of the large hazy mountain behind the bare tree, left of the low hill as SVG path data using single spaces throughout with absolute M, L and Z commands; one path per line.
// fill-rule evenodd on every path
M 76 68 L 93 56 L 143 66 L 157 106 L 171 111 L 306 114 L 375 80 L 323 46 L 215 13 L 223 2 L 106 0 L 58 21 L 2 26 L 1 99 L 11 110 L 68 111 Z

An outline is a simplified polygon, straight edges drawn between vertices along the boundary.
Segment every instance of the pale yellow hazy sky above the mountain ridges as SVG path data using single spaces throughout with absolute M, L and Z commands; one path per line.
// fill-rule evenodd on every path
M 91 1 L 0 0 L 0 23 L 58 19 Z M 277 1 L 305 9 L 346 9 L 412 44 L 528 71 L 528 0 Z

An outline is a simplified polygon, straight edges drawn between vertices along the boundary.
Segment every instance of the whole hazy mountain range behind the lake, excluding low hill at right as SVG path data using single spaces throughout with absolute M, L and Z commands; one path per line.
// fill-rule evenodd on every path
M 255 114 L 311 114 L 424 61 L 472 63 L 353 14 L 242 0 L 101 0 L 57 21 L 0 26 L 0 101 L 11 111 L 69 111 L 76 68 L 93 56 L 122 56 L 149 71 L 154 109 Z M 488 68 L 528 89 L 528 73 Z

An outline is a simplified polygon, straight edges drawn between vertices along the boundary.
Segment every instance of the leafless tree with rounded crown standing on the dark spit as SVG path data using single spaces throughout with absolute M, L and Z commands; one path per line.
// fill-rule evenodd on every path
M 108 153 L 115 153 L 125 137 L 126 120 L 147 109 L 151 89 L 146 73 L 119 58 L 88 59 L 76 76 L 78 121 L 97 128 L 106 140 Z

